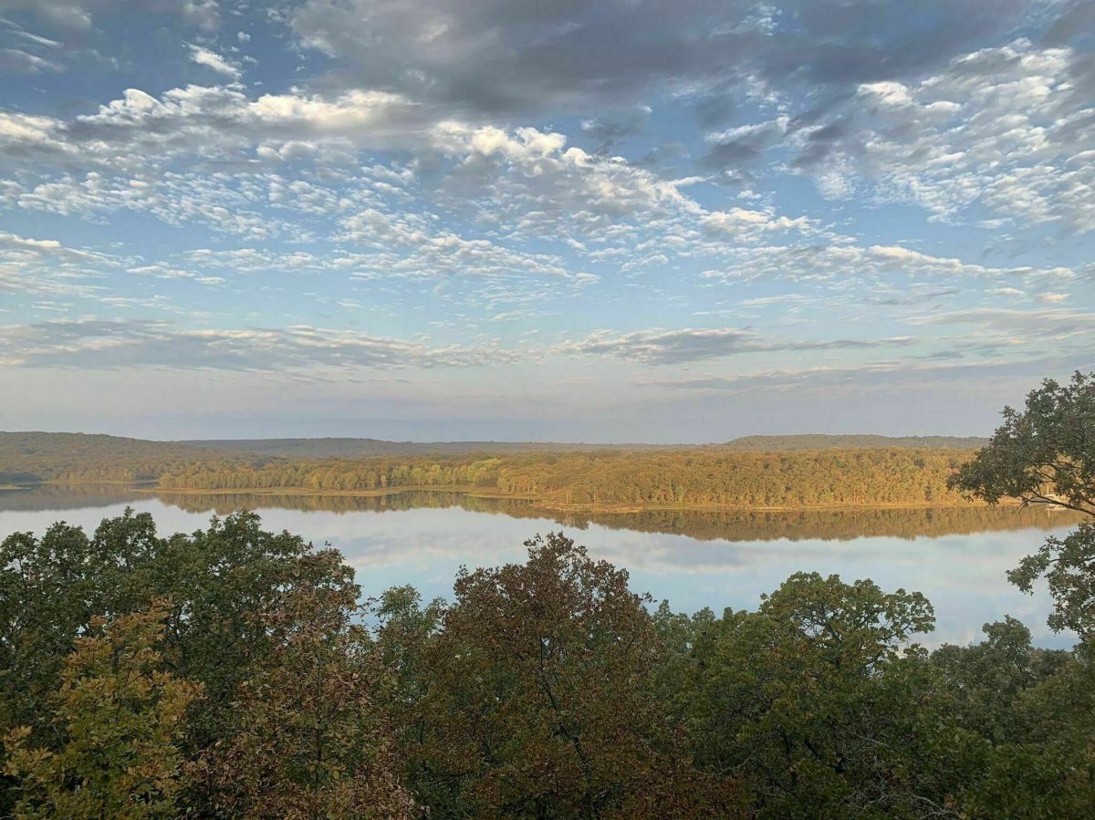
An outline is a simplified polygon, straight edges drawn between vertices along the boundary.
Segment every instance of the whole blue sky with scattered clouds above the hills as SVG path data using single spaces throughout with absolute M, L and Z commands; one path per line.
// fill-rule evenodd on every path
M 0 0 L 0 429 L 987 435 L 1095 368 L 1087 0 Z

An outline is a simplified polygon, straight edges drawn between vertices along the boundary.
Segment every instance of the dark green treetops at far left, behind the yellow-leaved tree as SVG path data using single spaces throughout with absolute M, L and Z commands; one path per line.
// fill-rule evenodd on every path
M 205 530 L 161 538 L 148 513 L 126 510 L 104 520 L 91 538 L 64 523 L 41 538 L 15 533 L 0 543 L 0 731 L 32 730 L 28 743 L 54 736 L 53 692 L 66 656 L 96 616 L 118 617 L 147 608 L 150 596 L 170 598 L 158 650 L 165 668 L 204 686 L 201 708 L 185 723 L 184 749 L 195 758 L 226 737 L 239 685 L 274 650 L 255 617 L 284 601 L 310 571 L 335 566 L 310 561 L 298 535 L 263 530 L 258 516 L 235 512 Z M 310 582 L 346 586 L 345 574 Z M 356 591 L 353 593 L 356 594 Z M 11 806 L 10 782 L 0 792 L 0 816 Z M 205 810 L 200 782 L 188 806 Z

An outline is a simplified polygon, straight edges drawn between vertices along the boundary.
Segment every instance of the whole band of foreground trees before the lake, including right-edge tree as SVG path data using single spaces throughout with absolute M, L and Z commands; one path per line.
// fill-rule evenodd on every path
M 1095 374 L 1005 409 L 950 492 L 1070 508 L 1008 573 L 1048 594 L 931 646 L 921 593 L 792 575 L 681 613 L 561 532 L 451 599 L 232 512 L 0 543 L 0 816 L 1087 818 Z

